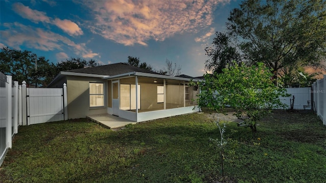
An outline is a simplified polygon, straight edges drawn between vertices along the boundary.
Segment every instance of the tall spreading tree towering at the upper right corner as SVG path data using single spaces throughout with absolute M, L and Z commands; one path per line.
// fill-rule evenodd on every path
M 320 67 L 326 55 L 326 1 L 246 0 L 231 11 L 227 28 L 246 57 L 276 77 L 288 66 Z

